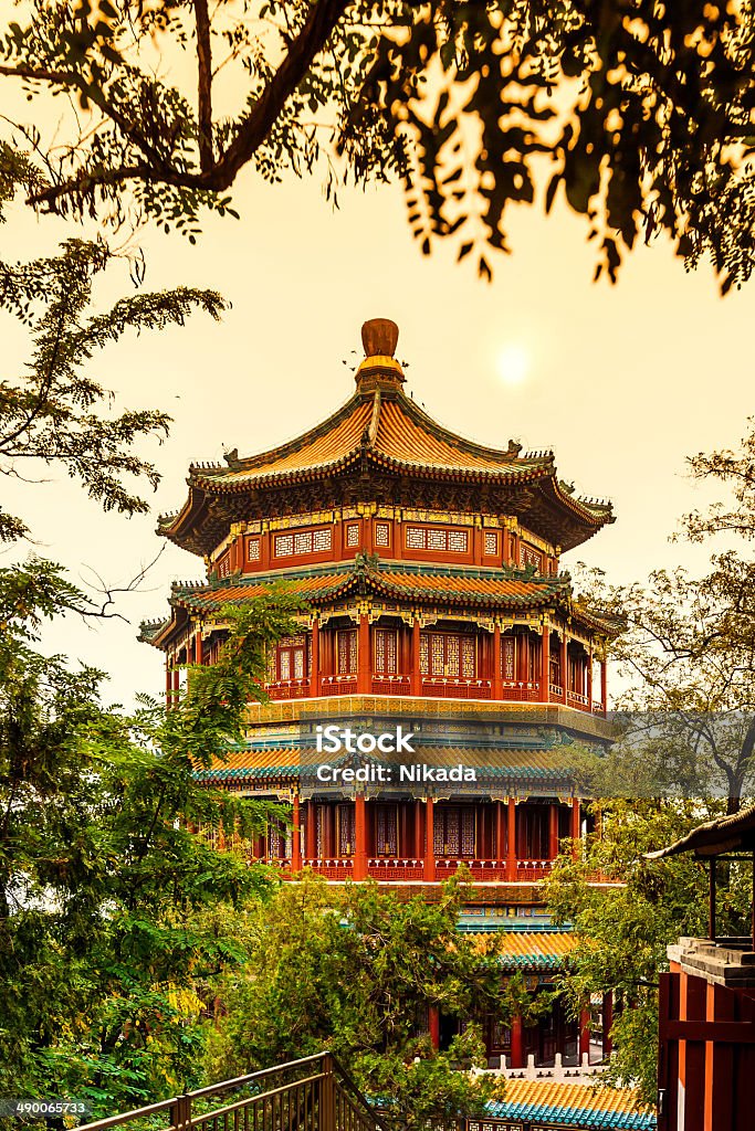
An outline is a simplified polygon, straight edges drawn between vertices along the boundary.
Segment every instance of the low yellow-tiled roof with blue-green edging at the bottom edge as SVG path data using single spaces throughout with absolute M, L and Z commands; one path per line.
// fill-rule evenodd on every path
M 498 1120 L 522 1120 L 557 1128 L 600 1128 L 601 1131 L 651 1131 L 653 1112 L 644 1107 L 630 1088 L 597 1088 L 592 1083 L 555 1080 L 506 1081 L 506 1098 L 488 1104 Z M 482 1128 L 482 1121 L 478 1126 Z M 471 1124 L 472 1126 L 472 1124 Z

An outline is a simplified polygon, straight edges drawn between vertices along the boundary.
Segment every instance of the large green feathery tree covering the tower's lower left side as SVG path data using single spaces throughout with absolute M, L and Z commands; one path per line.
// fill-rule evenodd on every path
M 241 737 L 243 705 L 264 698 L 261 650 L 295 608 L 277 594 L 246 610 L 178 707 L 145 700 L 127 717 L 103 706 L 101 672 L 37 649 L 44 621 L 92 612 L 86 597 L 48 562 L 0 571 L 5 1095 L 75 1096 L 104 1115 L 197 1079 L 199 991 L 243 958 L 215 918 L 274 884 L 244 852 L 265 806 L 194 770 Z M 232 830 L 238 851 L 198 827 Z

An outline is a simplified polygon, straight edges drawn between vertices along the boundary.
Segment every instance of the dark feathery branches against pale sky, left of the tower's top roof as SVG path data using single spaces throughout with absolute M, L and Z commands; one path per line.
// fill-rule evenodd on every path
M 154 464 L 134 447 L 144 437 L 164 437 L 170 417 L 156 409 L 110 416 L 112 394 L 92 375 L 92 360 L 128 329 L 182 325 L 196 308 L 217 319 L 224 304 L 213 291 L 179 287 L 137 292 L 106 313 L 87 314 L 94 278 L 108 259 L 101 244 L 68 240 L 59 256 L 0 265 L 0 305 L 31 321 L 34 340 L 20 374 L 0 381 L 0 474 L 27 477 L 37 465 L 63 467 L 105 510 L 134 515 L 147 503 L 125 477 L 153 489 L 160 482 Z M 20 518 L 0 511 L 0 541 L 28 533 Z

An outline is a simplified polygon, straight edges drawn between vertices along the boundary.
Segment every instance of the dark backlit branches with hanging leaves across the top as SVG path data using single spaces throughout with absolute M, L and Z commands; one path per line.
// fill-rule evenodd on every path
M 66 144 L 9 129 L 35 207 L 120 222 L 134 204 L 195 239 L 246 165 L 324 166 L 328 191 L 397 174 L 422 250 L 453 236 L 489 275 L 544 180 L 597 275 L 663 232 L 726 291 L 755 245 L 753 31 L 749 0 L 29 0 L 0 75 L 79 105 Z

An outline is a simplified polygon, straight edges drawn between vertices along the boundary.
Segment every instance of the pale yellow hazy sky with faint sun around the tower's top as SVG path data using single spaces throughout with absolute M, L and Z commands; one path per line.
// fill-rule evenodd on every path
M 269 187 L 246 172 L 234 198 L 241 221 L 208 218 L 196 248 L 154 232 L 141 241 L 148 287 L 214 287 L 232 303 L 223 321 L 197 314 L 182 329 L 130 335 L 93 365 L 120 406 L 174 417 L 169 441 L 149 449 L 163 474 L 153 512 L 104 515 L 66 478 L 3 481 L 3 506 L 29 523 L 38 552 L 75 579 L 96 570 L 111 584 L 128 580 L 160 549 L 157 513 L 183 503 L 190 460 L 268 448 L 331 413 L 353 389 L 342 361 L 361 355 L 362 321 L 383 316 L 401 328 L 406 388 L 438 421 L 488 444 L 515 437 L 552 447 L 580 492 L 614 500 L 617 523 L 565 564 L 582 559 L 628 581 L 701 562 L 668 535 L 700 498 L 685 456 L 736 443 L 752 412 L 741 343 L 755 284 L 721 300 L 707 267 L 687 275 L 658 243 L 626 262 L 616 287 L 594 285 L 582 224 L 565 209 L 546 219 L 534 208 L 512 214 L 513 254 L 492 260 L 486 284 L 454 264 L 451 248 L 420 256 L 397 188 L 344 193 L 334 213 L 315 181 Z M 1 230 L 3 258 L 49 253 L 69 233 L 19 208 Z M 97 300 L 130 285 L 117 265 Z M 23 364 L 25 331 L 3 317 L 0 333 L 3 368 Z M 517 385 L 501 377 L 506 351 L 526 364 Z M 27 551 L 6 549 L 0 563 Z M 106 668 L 115 701 L 157 692 L 162 658 L 136 642 L 138 622 L 165 613 L 173 578 L 201 575 L 199 559 L 168 546 L 143 592 L 122 601 L 129 624 L 93 630 L 70 620 L 49 644 Z

